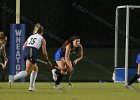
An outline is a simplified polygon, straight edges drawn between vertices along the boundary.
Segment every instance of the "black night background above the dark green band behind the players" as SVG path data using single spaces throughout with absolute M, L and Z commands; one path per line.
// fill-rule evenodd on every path
M 75 34 L 86 47 L 114 47 L 116 7 L 139 4 L 139 0 L 21 0 L 21 23 L 26 24 L 26 37 L 35 23 L 41 23 L 52 34 L 44 34 L 50 47 Z M 15 23 L 15 0 L 1 0 L 0 30 L 8 38 L 11 23 Z

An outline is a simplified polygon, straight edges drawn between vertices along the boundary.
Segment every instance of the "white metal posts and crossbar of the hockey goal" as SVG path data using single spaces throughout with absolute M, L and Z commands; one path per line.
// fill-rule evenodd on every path
M 118 6 L 116 8 L 116 16 L 115 16 L 115 51 L 114 51 L 114 73 L 113 80 L 114 82 L 118 82 L 116 79 L 116 68 L 118 67 L 118 34 L 119 32 L 125 35 L 125 73 L 124 73 L 124 82 L 128 83 L 128 63 L 129 63 L 129 21 L 130 21 L 130 9 L 140 8 L 140 6 L 135 5 L 124 5 Z M 125 31 L 119 29 L 119 11 L 120 9 L 125 9 Z

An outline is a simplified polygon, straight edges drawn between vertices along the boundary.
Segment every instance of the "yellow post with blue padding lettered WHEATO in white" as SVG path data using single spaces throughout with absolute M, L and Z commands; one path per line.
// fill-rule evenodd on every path
M 20 0 L 16 0 L 16 23 L 10 24 L 9 77 L 25 70 L 22 46 L 25 42 L 26 25 L 20 23 Z M 17 80 L 24 82 L 25 78 Z

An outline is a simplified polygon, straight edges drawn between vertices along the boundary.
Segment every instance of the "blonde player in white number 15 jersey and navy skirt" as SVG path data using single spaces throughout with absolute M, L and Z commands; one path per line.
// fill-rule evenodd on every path
M 26 77 L 27 75 L 30 75 L 29 91 L 36 90 L 35 80 L 38 72 L 38 66 L 36 64 L 36 61 L 37 61 L 37 53 L 40 47 L 42 48 L 42 53 L 44 55 L 46 63 L 49 66 L 52 66 L 46 51 L 46 40 L 42 37 L 43 30 L 44 28 L 39 23 L 37 23 L 34 27 L 33 35 L 31 35 L 24 43 L 23 50 L 26 61 L 26 70 L 9 77 L 10 87 L 13 81 L 20 79 L 22 77 Z

